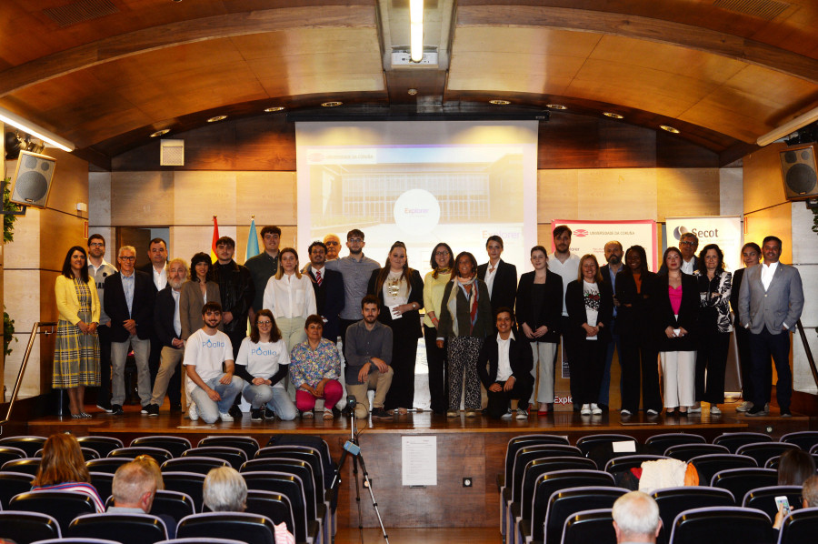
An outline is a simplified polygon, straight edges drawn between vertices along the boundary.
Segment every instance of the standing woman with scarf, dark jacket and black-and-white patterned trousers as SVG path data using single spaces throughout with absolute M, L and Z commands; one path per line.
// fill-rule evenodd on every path
M 465 388 L 467 418 L 481 408 L 477 359 L 485 337 L 494 332 L 492 303 L 488 287 L 477 278 L 477 260 L 466 251 L 454 259 L 454 278 L 444 289 L 443 306 L 437 325 L 437 347 L 449 339 L 449 409 L 446 416 L 456 418 L 460 396 Z M 465 384 L 464 384 L 465 373 Z

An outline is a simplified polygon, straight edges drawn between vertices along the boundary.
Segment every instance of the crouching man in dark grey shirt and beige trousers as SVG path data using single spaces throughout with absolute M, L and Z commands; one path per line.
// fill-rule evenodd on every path
M 367 295 L 361 300 L 364 319 L 346 329 L 346 390 L 357 400 L 355 417 L 369 415 L 366 391 L 374 389 L 372 417 L 391 419 L 384 400 L 392 385 L 392 328 L 378 321 L 378 298 Z

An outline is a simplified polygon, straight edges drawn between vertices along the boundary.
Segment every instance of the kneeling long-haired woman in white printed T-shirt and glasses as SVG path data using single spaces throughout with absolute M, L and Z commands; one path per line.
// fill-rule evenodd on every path
M 293 401 L 284 389 L 289 364 L 287 346 L 275 325 L 273 312 L 259 310 L 250 336 L 242 340 L 235 358 L 235 375 L 247 382 L 242 396 L 250 403 L 251 420 L 272 419 L 275 414 L 284 421 L 295 418 Z

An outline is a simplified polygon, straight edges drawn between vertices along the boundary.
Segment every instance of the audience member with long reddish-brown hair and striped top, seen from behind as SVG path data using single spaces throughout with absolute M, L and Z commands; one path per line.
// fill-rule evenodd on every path
M 99 498 L 91 475 L 85 467 L 85 459 L 79 442 L 73 435 L 51 435 L 43 445 L 43 460 L 31 482 L 33 491 L 58 490 L 83 493 L 94 500 L 97 512 L 105 511 L 105 503 Z

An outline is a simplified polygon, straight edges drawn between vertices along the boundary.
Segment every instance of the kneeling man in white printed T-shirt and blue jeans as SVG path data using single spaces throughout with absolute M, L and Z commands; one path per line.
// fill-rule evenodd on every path
M 184 364 L 190 378 L 187 392 L 194 400 L 189 415 L 193 421 L 201 416 L 207 423 L 214 423 L 218 418 L 233 421 L 227 411 L 242 392 L 244 381 L 233 375 L 233 345 L 230 337 L 218 329 L 222 323 L 222 305 L 208 302 L 202 307 L 202 317 L 205 327 L 185 342 Z

